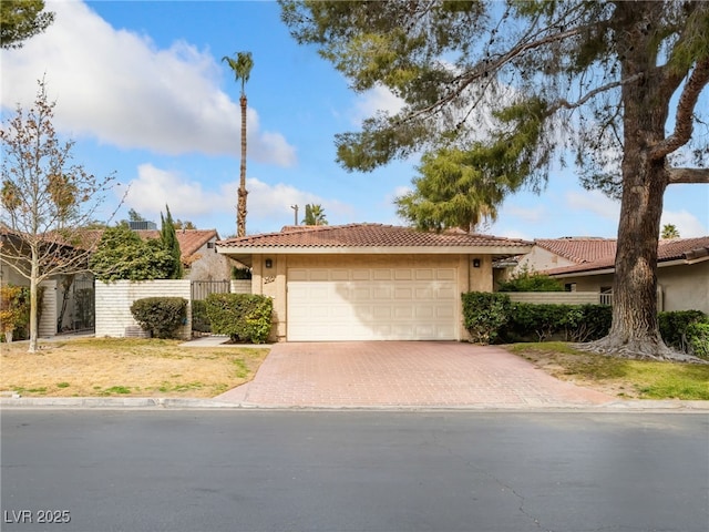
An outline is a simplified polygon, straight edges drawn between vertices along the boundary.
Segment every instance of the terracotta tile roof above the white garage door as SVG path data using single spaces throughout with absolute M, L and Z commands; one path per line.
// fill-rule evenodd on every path
M 240 247 L 520 247 L 531 242 L 463 232 L 428 233 L 382 224 L 286 226 L 280 233 L 249 235 L 219 242 L 226 248 Z M 518 253 L 518 252 L 517 252 Z

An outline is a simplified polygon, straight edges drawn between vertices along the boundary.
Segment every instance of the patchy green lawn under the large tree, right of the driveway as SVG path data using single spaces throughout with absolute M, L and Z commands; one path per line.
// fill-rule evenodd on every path
M 561 368 L 552 371 L 559 378 L 590 385 L 614 383 L 640 399 L 709 400 L 709 365 L 616 358 L 555 341 L 515 344 L 507 349 L 532 361 L 548 357 Z

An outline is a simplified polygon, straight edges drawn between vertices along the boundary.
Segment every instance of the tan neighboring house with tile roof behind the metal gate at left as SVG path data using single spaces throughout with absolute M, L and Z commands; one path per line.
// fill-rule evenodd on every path
M 136 231 L 141 238 L 160 238 L 160 231 Z M 185 278 L 189 280 L 228 280 L 232 278 L 232 260 L 217 254 L 216 229 L 177 229 L 181 259 Z

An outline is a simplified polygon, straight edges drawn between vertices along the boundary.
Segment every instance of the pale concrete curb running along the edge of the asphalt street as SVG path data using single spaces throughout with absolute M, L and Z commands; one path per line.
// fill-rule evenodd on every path
M 96 410 L 184 410 L 184 409 L 224 409 L 224 410 L 292 410 L 292 411 L 508 411 L 508 412 L 681 412 L 709 413 L 709 401 L 657 401 L 631 400 L 613 401 L 603 405 L 257 405 L 225 402 L 212 399 L 156 398 L 156 397 L 54 397 L 54 398 L 2 398 L 3 409 L 96 409 Z

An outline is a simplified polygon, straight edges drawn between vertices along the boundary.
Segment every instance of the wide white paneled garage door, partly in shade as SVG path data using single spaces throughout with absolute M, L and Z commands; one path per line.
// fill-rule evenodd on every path
M 290 268 L 288 340 L 452 340 L 454 268 Z

